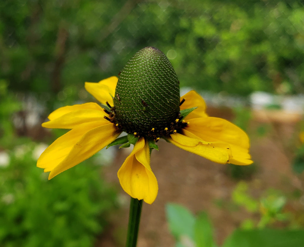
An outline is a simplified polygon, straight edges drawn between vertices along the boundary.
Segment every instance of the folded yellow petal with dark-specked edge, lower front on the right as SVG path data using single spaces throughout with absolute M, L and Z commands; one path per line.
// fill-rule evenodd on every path
M 186 133 L 186 131 L 184 131 L 184 133 Z M 200 155 L 213 162 L 220 164 L 226 164 L 228 162 L 229 158 L 231 157 L 229 145 L 216 141 L 206 142 L 193 137 L 188 137 L 185 134 L 175 133 L 171 134 L 168 141 L 181 149 Z

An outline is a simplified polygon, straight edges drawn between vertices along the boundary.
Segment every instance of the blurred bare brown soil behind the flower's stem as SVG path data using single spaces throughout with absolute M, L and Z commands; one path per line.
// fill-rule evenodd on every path
M 264 114 L 264 113 L 263 113 Z M 253 114 L 248 133 L 251 138 L 250 153 L 256 170 L 246 182 L 251 195 L 259 197 L 268 188 L 275 188 L 285 194 L 295 190 L 303 194 L 303 176 L 292 172 L 291 160 L 298 132 L 299 117 L 285 116 L 272 119 L 266 113 Z M 284 113 L 285 114 L 285 113 Z M 211 109 L 210 116 L 233 118 L 227 109 Z M 257 128 L 266 126 L 263 136 L 257 134 Z M 181 150 L 165 141 L 160 141 L 159 151 L 153 151 L 151 167 L 157 177 L 159 192 L 152 205 L 143 203 L 139 247 L 174 246 L 165 217 L 165 205 L 168 202 L 182 204 L 193 213 L 206 211 L 215 229 L 218 244 L 237 227 L 241 221 L 258 217 L 244 209 L 232 210 L 231 192 L 239 180 L 232 178 L 228 165 L 220 165 L 192 153 Z M 104 169 L 105 177 L 118 188 L 116 172 L 126 158 L 126 152 L 117 153 L 113 165 Z M 129 197 L 120 188 L 122 207 L 109 216 L 112 222 L 105 234 L 101 235 L 96 246 L 124 246 L 128 221 Z M 216 201 L 223 203 L 222 207 Z M 299 201 L 288 204 L 288 210 L 295 214 L 303 213 L 303 204 Z

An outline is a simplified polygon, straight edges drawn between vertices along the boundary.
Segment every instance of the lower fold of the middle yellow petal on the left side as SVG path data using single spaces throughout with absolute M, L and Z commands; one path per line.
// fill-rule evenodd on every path
M 105 112 L 100 107 L 99 110 L 85 109 L 85 110 L 74 110 L 69 113 L 57 117 L 54 120 L 42 123 L 42 127 L 45 128 L 59 128 L 59 129 L 73 129 L 81 123 L 88 123 L 93 121 L 102 121 L 103 124 L 109 123 L 104 118 Z

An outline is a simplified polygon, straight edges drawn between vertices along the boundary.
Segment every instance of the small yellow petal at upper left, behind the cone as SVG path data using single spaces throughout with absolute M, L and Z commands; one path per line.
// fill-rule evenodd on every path
M 98 83 L 96 82 L 86 82 L 85 89 L 92 94 L 95 99 L 105 105 L 107 101 L 111 106 L 113 106 L 113 98 L 115 94 L 115 88 L 118 78 L 116 76 L 111 76 Z

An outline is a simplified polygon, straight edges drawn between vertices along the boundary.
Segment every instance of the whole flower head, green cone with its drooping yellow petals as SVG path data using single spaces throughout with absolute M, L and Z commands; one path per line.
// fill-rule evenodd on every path
M 49 179 L 106 146 L 134 145 L 117 175 L 131 197 L 151 204 L 158 185 L 150 167 L 150 152 L 160 138 L 211 161 L 249 165 L 249 138 L 227 120 L 209 117 L 201 96 L 190 91 L 179 97 L 179 82 L 167 57 L 154 47 L 137 52 L 121 71 L 85 89 L 102 106 L 85 103 L 61 107 L 43 123 L 71 129 L 40 156 L 37 166 Z M 122 132 L 127 135 L 119 137 Z M 117 138 L 119 137 L 119 138 Z

